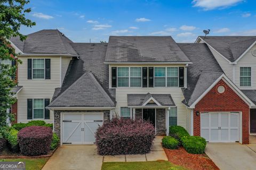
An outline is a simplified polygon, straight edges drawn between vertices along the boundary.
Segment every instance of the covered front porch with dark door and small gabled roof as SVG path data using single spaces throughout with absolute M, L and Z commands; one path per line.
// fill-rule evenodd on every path
M 128 94 L 127 104 L 132 118 L 152 123 L 156 135 L 168 134 L 170 122 L 177 124 L 177 108 L 170 94 Z

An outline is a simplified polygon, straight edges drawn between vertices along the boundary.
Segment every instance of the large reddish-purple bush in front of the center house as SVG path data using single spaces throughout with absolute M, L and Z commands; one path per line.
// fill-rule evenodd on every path
M 104 123 L 95 134 L 100 155 L 147 154 L 153 147 L 154 138 L 153 124 L 123 118 Z

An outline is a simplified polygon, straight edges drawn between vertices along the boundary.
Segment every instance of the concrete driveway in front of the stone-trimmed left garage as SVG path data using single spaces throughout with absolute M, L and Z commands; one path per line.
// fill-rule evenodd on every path
M 100 170 L 102 160 L 103 156 L 97 154 L 96 145 L 62 145 L 44 165 L 43 170 Z

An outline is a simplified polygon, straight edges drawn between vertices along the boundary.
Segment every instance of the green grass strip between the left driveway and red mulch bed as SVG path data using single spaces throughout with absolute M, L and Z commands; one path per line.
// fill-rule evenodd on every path
M 185 170 L 168 161 L 103 163 L 101 170 Z

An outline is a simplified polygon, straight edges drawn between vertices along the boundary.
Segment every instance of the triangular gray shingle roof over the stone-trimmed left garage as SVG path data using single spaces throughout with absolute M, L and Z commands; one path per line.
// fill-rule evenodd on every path
M 94 75 L 85 72 L 48 107 L 115 107 L 115 103 Z

